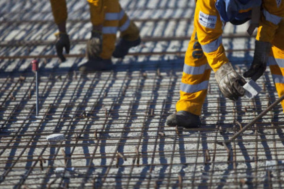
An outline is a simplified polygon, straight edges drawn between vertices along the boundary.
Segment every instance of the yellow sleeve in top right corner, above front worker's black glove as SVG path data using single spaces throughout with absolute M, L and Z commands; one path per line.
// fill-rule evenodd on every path
M 278 24 L 284 19 L 284 1 L 264 0 L 256 40 L 272 42 Z

